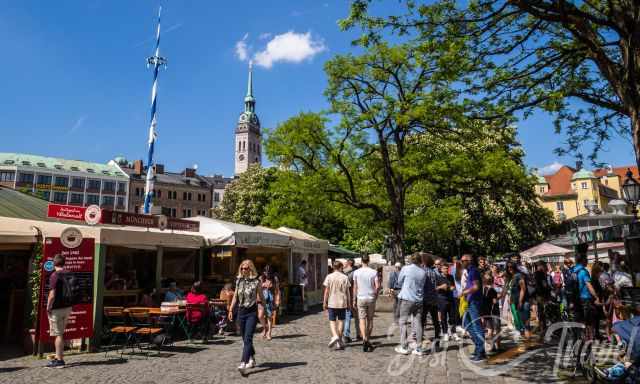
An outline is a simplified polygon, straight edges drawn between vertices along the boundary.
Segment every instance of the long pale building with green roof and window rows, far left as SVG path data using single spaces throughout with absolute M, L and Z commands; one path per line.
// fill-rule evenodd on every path
M 57 204 L 126 211 L 129 178 L 111 164 L 0 153 L 0 185 Z

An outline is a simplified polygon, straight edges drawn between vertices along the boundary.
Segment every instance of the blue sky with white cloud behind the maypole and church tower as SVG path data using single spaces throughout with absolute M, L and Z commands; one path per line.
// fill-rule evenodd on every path
M 0 151 L 106 162 L 146 155 L 157 0 L 0 0 Z M 393 12 L 394 1 L 389 1 Z M 256 60 L 254 96 L 264 127 L 325 108 L 323 63 L 350 52 L 355 32 L 337 20 L 348 2 L 163 1 L 156 159 L 168 169 L 233 172 L 233 134 Z M 244 61 L 240 60 L 243 58 Z M 529 166 L 574 164 L 538 113 L 519 124 Z M 601 155 L 633 163 L 617 138 Z

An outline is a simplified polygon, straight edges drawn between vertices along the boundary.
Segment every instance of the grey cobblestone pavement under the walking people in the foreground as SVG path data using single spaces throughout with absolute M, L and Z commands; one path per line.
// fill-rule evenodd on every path
M 241 340 L 216 338 L 208 345 L 178 343 L 161 356 L 145 358 L 126 355 L 105 358 L 104 353 L 68 356 L 64 369 L 44 368 L 45 362 L 22 357 L 0 362 L 0 383 L 556 383 L 552 374 L 554 356 L 544 350 L 533 352 L 526 361 L 506 369 L 503 375 L 486 376 L 486 363 L 474 366 L 459 355 L 458 345 L 427 356 L 400 356 L 393 348 L 396 335 L 391 316 L 378 313 L 375 319 L 375 351 L 362 352 L 361 343 L 343 351 L 327 348 L 328 323 L 324 313 L 291 319 L 274 330 L 272 341 L 255 338 L 258 366 L 242 377 L 236 367 Z M 470 346 L 465 345 L 462 352 Z M 484 373 L 469 369 L 484 368 Z M 498 367 L 499 368 L 499 367 Z

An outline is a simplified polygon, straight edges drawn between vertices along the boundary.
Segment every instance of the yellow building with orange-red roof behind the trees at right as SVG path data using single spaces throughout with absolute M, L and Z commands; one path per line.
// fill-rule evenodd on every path
M 542 206 L 559 221 L 590 211 L 609 212 L 609 203 L 622 199 L 627 169 L 638 178 L 637 166 L 607 167 L 588 171 L 566 165 L 554 174 L 537 176 L 536 194 Z

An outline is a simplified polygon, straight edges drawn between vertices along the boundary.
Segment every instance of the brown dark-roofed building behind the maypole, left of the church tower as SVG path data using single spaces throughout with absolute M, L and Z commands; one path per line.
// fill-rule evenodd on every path
M 111 162 L 129 176 L 129 211 L 142 213 L 147 170 L 142 160 L 129 163 L 116 158 Z M 195 169 L 182 172 L 166 172 L 164 165 L 155 165 L 156 180 L 151 214 L 184 218 L 211 215 L 213 192 L 207 179 Z

